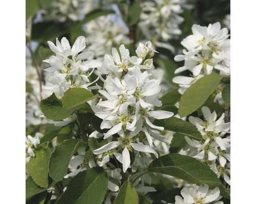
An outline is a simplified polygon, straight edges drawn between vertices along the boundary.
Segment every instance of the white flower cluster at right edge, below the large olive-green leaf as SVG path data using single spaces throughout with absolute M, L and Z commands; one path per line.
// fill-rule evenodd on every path
M 204 121 L 198 117 L 189 116 L 189 122 L 194 124 L 202 135 L 202 140 L 197 141 L 185 136 L 189 145 L 188 156 L 194 157 L 206 163 L 223 177 L 230 185 L 230 122 L 224 121 L 223 113 L 217 119 L 216 112 L 210 112 L 209 108 L 202 108 Z

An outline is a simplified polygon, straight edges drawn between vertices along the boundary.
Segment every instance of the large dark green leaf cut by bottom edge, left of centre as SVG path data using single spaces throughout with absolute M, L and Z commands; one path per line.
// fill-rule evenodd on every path
M 108 188 L 108 174 L 99 167 L 79 172 L 56 204 L 100 204 Z

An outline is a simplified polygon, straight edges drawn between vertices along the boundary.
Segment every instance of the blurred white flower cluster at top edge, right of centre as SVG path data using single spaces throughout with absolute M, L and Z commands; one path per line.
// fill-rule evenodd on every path
M 147 39 L 157 47 L 164 47 L 175 52 L 173 45 L 168 40 L 181 34 L 179 25 L 183 17 L 181 0 L 154 0 L 141 3 L 140 28 Z

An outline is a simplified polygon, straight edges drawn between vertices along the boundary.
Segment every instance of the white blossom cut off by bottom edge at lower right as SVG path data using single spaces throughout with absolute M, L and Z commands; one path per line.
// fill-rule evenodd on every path
M 201 184 L 197 187 L 196 184 L 193 186 L 184 187 L 181 190 L 181 195 L 183 196 L 184 200 L 180 196 L 175 197 L 175 204 L 198 204 L 198 203 L 215 203 L 215 204 L 223 204 L 222 201 L 215 201 L 219 195 L 220 190 L 216 187 L 214 190 L 209 190 L 209 186 L 207 184 Z

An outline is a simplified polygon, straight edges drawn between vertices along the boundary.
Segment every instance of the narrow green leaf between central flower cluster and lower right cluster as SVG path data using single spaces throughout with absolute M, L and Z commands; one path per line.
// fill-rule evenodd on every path
M 197 140 L 202 139 L 201 133 L 193 124 L 180 118 L 170 117 L 168 119 L 155 120 L 154 124 L 157 126 L 163 126 L 165 130 L 180 133 Z

